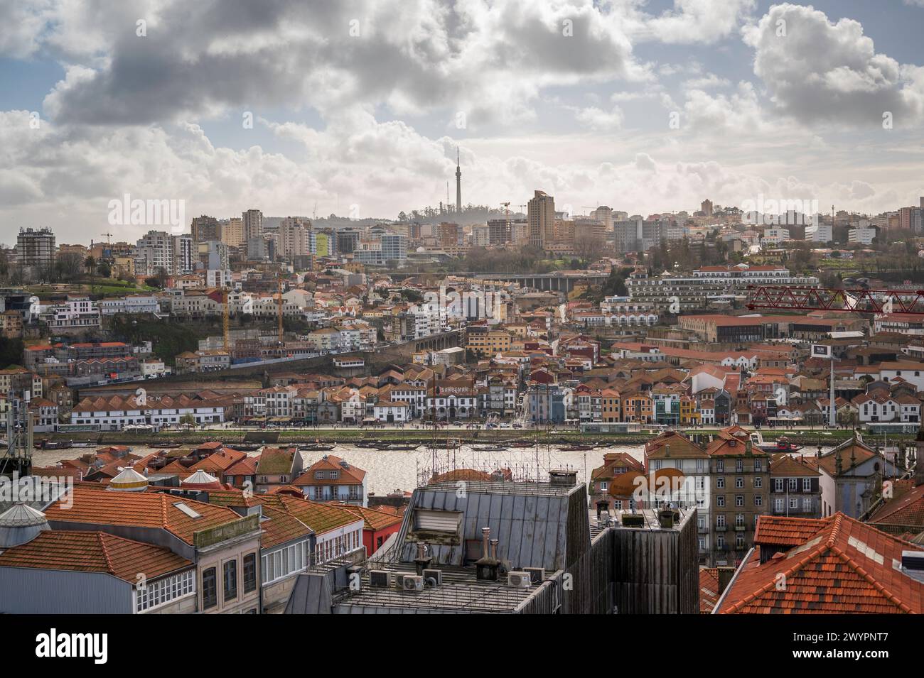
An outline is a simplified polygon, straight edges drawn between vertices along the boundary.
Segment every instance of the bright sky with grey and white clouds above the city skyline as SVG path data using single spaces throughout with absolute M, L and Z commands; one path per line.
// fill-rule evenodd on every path
M 0 243 L 455 201 L 924 196 L 924 0 L 0 0 Z M 121 213 L 121 212 L 120 212 Z

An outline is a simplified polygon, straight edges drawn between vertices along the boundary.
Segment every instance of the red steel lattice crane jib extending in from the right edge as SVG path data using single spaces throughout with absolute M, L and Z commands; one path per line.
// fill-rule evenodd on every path
M 748 285 L 748 309 L 924 314 L 924 290 L 841 290 L 830 287 Z

